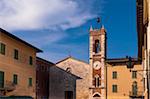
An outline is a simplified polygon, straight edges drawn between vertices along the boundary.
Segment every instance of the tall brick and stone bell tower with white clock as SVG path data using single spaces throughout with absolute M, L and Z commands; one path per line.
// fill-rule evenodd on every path
M 89 36 L 90 99 L 105 99 L 106 31 L 90 27 Z

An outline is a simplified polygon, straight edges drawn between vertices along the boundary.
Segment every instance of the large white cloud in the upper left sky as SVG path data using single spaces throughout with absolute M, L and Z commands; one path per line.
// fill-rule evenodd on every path
M 95 16 L 89 10 L 90 5 L 85 5 L 86 2 L 77 0 L 0 0 L 0 27 L 8 30 L 77 27 Z

